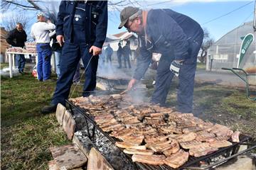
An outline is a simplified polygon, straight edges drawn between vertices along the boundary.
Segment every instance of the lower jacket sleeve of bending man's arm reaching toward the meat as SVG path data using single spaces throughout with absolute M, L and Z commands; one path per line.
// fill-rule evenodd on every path
M 146 50 L 146 46 L 142 46 L 139 48 L 139 56 L 137 57 L 137 67 L 133 75 L 134 79 L 137 79 L 137 80 L 142 79 L 142 77 L 146 73 L 146 70 L 149 68 L 151 58 L 152 58 L 152 53 Z

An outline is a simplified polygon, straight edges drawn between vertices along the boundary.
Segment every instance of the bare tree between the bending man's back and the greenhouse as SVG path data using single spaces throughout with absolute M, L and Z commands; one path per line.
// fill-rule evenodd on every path
M 210 37 L 210 33 L 207 30 L 207 28 L 203 28 L 203 43 L 201 46 L 201 55 L 200 57 L 198 57 L 198 60 L 200 60 L 200 62 L 206 62 L 206 57 L 207 57 L 207 50 L 208 48 L 213 45 L 214 43 L 214 39 Z

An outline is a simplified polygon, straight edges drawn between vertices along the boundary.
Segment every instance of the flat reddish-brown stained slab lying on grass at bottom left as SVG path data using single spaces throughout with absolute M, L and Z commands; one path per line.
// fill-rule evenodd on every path
M 75 144 L 50 147 L 50 152 L 60 170 L 80 168 L 87 162 L 85 154 L 83 154 Z

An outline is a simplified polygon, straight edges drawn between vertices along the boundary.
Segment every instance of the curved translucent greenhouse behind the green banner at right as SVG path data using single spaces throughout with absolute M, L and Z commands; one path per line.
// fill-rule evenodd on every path
M 244 23 L 242 26 L 239 26 L 234 30 L 231 30 L 209 48 L 208 57 L 206 60 L 206 70 L 220 70 L 222 67 L 237 67 L 238 58 L 240 56 L 240 46 L 243 38 L 248 33 L 252 33 L 252 35 L 254 35 L 254 40 L 245 53 L 245 63 L 242 64 L 242 69 L 246 69 L 247 67 L 255 67 L 256 33 L 253 28 L 253 22 L 251 21 Z

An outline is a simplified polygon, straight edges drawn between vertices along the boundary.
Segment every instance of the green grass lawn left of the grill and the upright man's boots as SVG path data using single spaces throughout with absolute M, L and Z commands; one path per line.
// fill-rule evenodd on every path
M 1 77 L 1 169 L 48 169 L 53 159 L 49 147 L 70 143 L 55 114 L 40 113 L 50 103 L 55 84 L 28 73 Z

